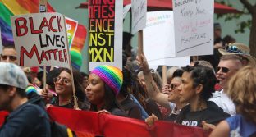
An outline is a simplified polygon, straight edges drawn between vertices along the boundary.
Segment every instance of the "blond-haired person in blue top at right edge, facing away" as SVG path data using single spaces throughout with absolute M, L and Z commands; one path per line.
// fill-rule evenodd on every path
M 212 136 L 256 136 L 256 68 L 245 66 L 229 81 L 226 94 L 235 103 L 236 116 L 222 121 Z

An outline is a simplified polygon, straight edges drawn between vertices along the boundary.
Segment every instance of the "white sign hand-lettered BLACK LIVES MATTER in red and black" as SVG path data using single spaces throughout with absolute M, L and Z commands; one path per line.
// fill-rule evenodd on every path
M 70 68 L 65 17 L 62 14 L 11 16 L 11 27 L 20 66 Z

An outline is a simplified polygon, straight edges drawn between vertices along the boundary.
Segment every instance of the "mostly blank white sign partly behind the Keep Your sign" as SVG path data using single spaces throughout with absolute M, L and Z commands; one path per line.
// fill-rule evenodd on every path
M 173 11 L 147 13 L 143 43 L 144 54 L 149 66 L 186 66 L 190 64 L 189 57 L 175 57 L 173 23 Z

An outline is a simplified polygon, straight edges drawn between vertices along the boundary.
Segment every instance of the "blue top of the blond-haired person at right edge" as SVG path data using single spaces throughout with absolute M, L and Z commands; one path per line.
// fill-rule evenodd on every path
M 230 127 L 230 136 L 250 136 L 256 133 L 256 123 L 246 121 L 240 114 L 226 119 Z

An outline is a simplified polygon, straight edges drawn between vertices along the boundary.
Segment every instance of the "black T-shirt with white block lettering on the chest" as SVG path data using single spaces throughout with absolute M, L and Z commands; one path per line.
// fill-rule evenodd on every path
M 209 124 L 217 125 L 222 120 L 225 120 L 230 115 L 223 112 L 222 108 L 211 101 L 207 102 L 207 108 L 198 112 L 190 112 L 190 105 L 181 109 L 181 113 L 176 117 L 176 123 L 185 126 L 200 126 L 201 122 L 206 121 Z

